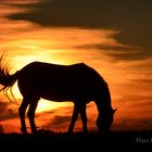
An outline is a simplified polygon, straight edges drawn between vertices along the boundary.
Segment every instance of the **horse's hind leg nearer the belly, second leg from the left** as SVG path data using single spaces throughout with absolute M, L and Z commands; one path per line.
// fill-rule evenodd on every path
M 33 101 L 29 105 L 29 110 L 27 112 L 28 118 L 29 118 L 29 123 L 30 123 L 30 128 L 31 128 L 31 134 L 36 134 L 37 132 L 37 127 L 35 124 L 35 111 L 37 109 L 38 105 L 38 101 Z

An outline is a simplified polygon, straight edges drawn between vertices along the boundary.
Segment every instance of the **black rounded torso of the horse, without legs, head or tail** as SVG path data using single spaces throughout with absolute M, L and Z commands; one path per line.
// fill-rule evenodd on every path
M 54 97 L 51 100 L 71 100 L 73 97 L 89 97 L 101 80 L 102 77 L 84 63 L 56 65 L 33 62 L 21 69 L 18 87 L 21 91 L 30 88 L 30 92 L 46 99 Z

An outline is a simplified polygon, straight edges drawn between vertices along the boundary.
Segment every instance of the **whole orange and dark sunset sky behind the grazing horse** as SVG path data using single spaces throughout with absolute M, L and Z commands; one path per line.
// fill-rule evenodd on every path
M 33 61 L 84 62 L 109 84 L 117 109 L 113 130 L 152 129 L 151 15 L 151 0 L 0 0 L 0 53 L 12 73 Z M 13 92 L 20 104 L 16 84 Z M 17 109 L 0 93 L 0 132 L 20 132 Z M 40 100 L 36 124 L 66 131 L 72 111 L 73 103 Z M 87 114 L 96 129 L 93 102 Z

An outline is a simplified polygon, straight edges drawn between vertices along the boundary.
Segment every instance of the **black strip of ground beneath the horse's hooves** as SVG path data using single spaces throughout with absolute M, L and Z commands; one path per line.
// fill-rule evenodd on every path
M 152 147 L 152 131 L 112 131 L 103 132 L 52 132 L 39 131 L 37 135 L 1 134 L 0 145 L 5 150 L 21 147 L 23 150 L 99 150 L 114 148 L 148 148 Z M 17 149 L 16 149 L 17 150 Z M 80 150 L 79 150 L 80 151 Z

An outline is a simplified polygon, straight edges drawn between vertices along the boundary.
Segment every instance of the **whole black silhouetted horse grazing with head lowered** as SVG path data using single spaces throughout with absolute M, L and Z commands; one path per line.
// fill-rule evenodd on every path
M 35 111 L 40 98 L 56 102 L 72 101 L 74 110 L 68 132 L 73 132 L 74 125 L 80 113 L 83 130 L 87 129 L 86 105 L 94 101 L 99 112 L 97 126 L 99 130 L 107 131 L 113 123 L 115 110 L 111 105 L 111 96 L 105 80 L 92 67 L 77 63 L 73 65 L 56 65 L 42 62 L 31 62 L 14 74 L 5 64 L 3 56 L 0 59 L 0 84 L 2 90 L 8 91 L 17 80 L 23 101 L 18 107 L 21 131 L 27 134 L 25 113 L 30 123 L 33 134 L 37 132 Z

